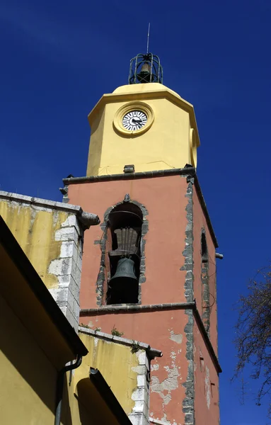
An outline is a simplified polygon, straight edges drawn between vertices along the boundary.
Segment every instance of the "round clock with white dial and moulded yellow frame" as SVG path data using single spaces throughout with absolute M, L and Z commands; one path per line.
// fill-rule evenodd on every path
M 136 137 L 149 130 L 154 122 L 154 111 L 144 102 L 129 102 L 117 111 L 113 126 L 121 135 Z

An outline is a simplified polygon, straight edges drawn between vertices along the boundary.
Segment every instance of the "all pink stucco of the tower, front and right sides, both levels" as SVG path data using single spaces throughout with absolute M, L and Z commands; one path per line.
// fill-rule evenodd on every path
M 121 202 L 126 193 L 132 200 L 143 204 L 148 215 L 149 230 L 144 236 L 146 256 L 146 281 L 142 283 L 142 305 L 171 302 L 186 302 L 184 265 L 185 229 L 188 225 L 188 183 L 182 176 L 166 176 L 152 179 L 125 181 L 100 181 L 69 186 L 69 202 L 81 205 L 83 210 L 95 212 L 101 222 L 105 211 Z M 207 235 L 210 259 L 215 263 L 215 248 L 209 234 L 204 212 L 193 186 L 193 260 L 194 297 L 202 314 L 202 282 L 200 234 L 202 227 Z M 100 226 L 85 232 L 81 279 L 81 308 L 96 308 L 96 280 L 100 270 L 101 251 L 99 241 L 103 235 Z M 211 270 L 211 268 L 210 268 Z M 214 279 L 210 280 L 210 291 L 216 299 Z M 210 272 L 211 273 L 211 272 Z M 213 283 L 212 283 L 213 282 Z M 187 339 L 185 325 L 188 316 L 184 310 L 156 312 L 122 312 L 82 316 L 81 322 L 101 328 L 110 333 L 115 326 L 128 339 L 143 341 L 163 351 L 162 358 L 152 362 L 150 414 L 156 419 L 171 424 L 184 424 L 183 383 L 188 375 Z M 194 321 L 194 365 L 195 365 L 195 414 L 200 425 L 218 425 L 218 378 L 212 358 Z M 217 351 L 217 307 L 211 312 L 211 341 Z M 200 360 L 200 357 L 203 357 Z M 211 385 L 212 384 L 214 385 Z M 212 390 L 212 391 L 211 391 Z M 200 413 L 202 412 L 202 414 Z M 202 416 L 203 415 L 203 416 Z

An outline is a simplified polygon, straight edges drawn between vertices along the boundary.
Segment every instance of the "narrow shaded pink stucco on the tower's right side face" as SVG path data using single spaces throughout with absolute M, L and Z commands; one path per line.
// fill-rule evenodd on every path
M 209 254 L 209 300 L 210 327 L 209 336 L 214 352 L 217 354 L 217 282 L 215 246 L 206 217 L 196 189 L 193 191 L 193 229 L 194 229 L 194 296 L 197 309 L 202 315 L 202 280 L 201 280 L 201 233 L 204 229 Z M 195 369 L 195 420 L 200 425 L 219 424 L 219 378 L 214 362 L 202 338 L 202 333 L 194 323 L 194 369 Z

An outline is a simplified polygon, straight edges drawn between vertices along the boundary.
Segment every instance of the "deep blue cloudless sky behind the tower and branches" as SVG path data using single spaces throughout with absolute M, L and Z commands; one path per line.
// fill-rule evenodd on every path
M 103 93 L 127 84 L 149 21 L 164 84 L 195 106 L 198 175 L 224 254 L 221 425 L 262 425 L 255 385 L 241 405 L 229 380 L 233 303 L 271 258 L 270 0 L 2 0 L 1 190 L 61 200 L 62 178 L 85 174 L 87 115 Z

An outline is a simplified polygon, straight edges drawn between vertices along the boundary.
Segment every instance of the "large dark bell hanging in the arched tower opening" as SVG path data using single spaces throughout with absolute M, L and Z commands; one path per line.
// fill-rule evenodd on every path
M 112 288 L 125 288 L 127 285 L 137 283 L 137 276 L 134 273 L 134 261 L 131 259 L 120 259 L 117 262 L 117 270 L 110 280 Z

